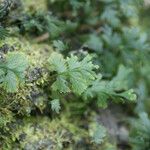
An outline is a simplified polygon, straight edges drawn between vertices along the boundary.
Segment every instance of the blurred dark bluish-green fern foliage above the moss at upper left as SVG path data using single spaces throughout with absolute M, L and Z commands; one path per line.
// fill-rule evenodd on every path
M 50 13 L 35 13 L 34 16 L 28 14 L 29 20 L 22 19 L 21 26 L 26 32 L 37 34 L 49 33 L 50 38 L 58 37 L 64 31 L 64 22 L 53 17 Z

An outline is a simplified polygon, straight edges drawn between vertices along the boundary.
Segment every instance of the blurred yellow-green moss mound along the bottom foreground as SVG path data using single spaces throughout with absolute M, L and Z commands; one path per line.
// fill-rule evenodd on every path
M 63 113 L 60 118 L 51 119 L 46 116 L 30 116 L 19 119 L 14 117 L 14 121 L 7 124 L 7 134 L 3 140 L 3 148 L 7 150 L 115 150 L 115 146 L 105 139 L 105 143 L 97 145 L 91 142 L 91 125 L 93 125 L 93 115 L 90 120 L 71 121 Z M 78 119 L 78 118 L 77 118 Z M 80 121 L 81 123 L 81 121 Z M 87 124 L 88 128 L 84 128 Z

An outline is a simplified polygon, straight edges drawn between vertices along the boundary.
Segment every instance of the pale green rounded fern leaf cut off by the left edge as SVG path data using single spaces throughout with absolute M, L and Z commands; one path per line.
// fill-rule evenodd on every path
M 16 92 L 24 80 L 27 58 L 22 53 L 12 52 L 0 62 L 0 86 L 7 92 Z

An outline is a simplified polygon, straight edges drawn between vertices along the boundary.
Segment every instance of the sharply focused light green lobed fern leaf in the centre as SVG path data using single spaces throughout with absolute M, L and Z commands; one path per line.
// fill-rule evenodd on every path
M 60 93 L 74 92 L 82 94 L 96 78 L 93 71 L 98 66 L 92 64 L 92 57 L 87 55 L 82 61 L 78 57 L 71 55 L 64 59 L 56 52 L 49 58 L 49 69 L 57 72 L 56 81 L 52 84 L 52 89 Z

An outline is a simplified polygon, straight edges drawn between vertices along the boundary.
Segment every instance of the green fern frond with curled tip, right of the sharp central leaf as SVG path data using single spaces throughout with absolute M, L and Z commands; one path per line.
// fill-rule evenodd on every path
M 111 81 L 104 81 L 101 78 L 93 82 L 93 85 L 84 93 L 84 99 L 89 97 L 97 97 L 97 104 L 100 107 L 107 107 L 108 100 L 136 100 L 136 94 L 134 90 L 127 89 L 127 77 L 130 73 L 130 69 L 126 69 L 124 66 L 120 66 L 118 74 Z M 124 92 L 120 92 L 120 91 Z

